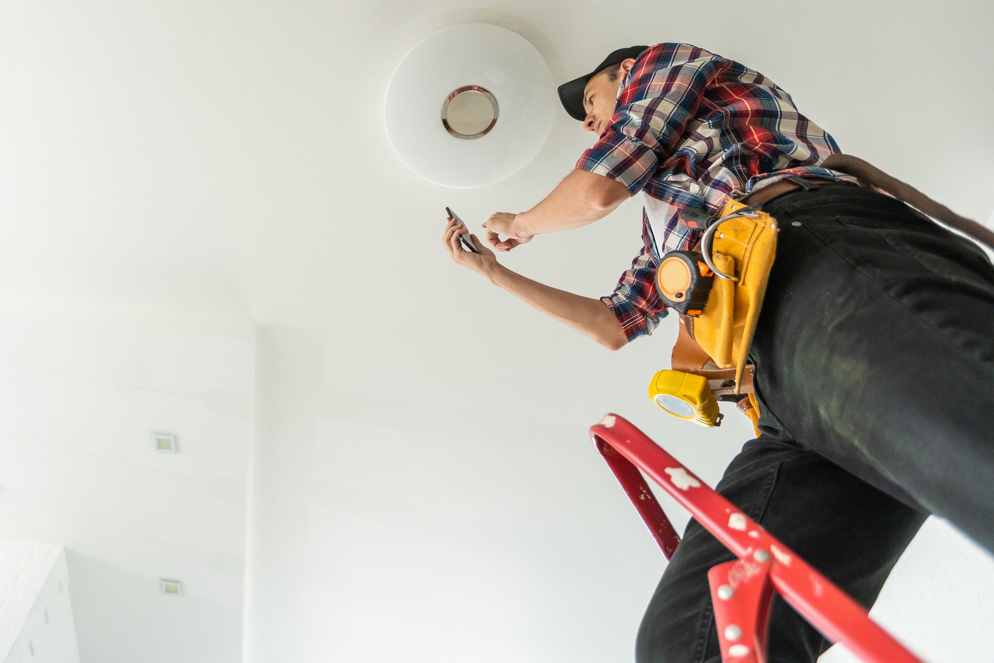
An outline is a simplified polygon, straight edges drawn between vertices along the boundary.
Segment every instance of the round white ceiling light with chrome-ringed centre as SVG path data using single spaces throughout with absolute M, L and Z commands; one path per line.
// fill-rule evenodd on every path
M 472 188 L 525 166 L 552 129 L 552 73 L 524 37 L 485 23 L 421 40 L 387 87 L 384 117 L 398 156 L 437 184 Z

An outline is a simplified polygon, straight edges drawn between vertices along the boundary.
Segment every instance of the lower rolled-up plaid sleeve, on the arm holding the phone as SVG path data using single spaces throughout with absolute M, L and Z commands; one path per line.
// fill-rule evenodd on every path
M 644 247 L 618 279 L 614 292 L 600 301 L 617 318 L 628 340 L 652 333 L 669 309 L 656 295 L 656 261 Z

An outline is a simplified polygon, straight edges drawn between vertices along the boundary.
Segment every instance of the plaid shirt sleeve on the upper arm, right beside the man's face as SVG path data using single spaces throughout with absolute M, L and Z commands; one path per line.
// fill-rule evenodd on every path
M 610 125 L 577 167 L 624 184 L 635 195 L 669 158 L 724 58 L 687 44 L 657 44 L 639 55 Z

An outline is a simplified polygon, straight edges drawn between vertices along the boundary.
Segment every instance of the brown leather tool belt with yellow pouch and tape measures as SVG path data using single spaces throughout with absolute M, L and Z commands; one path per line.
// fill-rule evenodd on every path
M 832 154 L 821 165 L 853 175 L 978 243 L 994 247 L 990 230 L 863 159 Z M 649 384 L 649 397 L 663 410 L 704 426 L 718 426 L 723 416 L 718 398 L 735 400 L 759 435 L 754 366 L 746 357 L 773 265 L 777 233 L 775 219 L 759 205 L 797 188 L 810 190 L 817 185 L 788 175 L 744 202 L 729 198 L 717 219 L 701 210 L 681 213 L 681 223 L 705 232 L 694 250 L 663 256 L 656 271 L 657 294 L 680 314 L 672 369 L 658 371 Z

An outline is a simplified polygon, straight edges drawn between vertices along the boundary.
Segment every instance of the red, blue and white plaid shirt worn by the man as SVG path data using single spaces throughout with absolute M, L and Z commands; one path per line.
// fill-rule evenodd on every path
M 621 82 L 610 125 L 577 162 L 647 197 L 641 250 L 600 298 L 628 339 L 652 333 L 668 312 L 655 290 L 660 256 L 689 249 L 702 233 L 679 223 L 684 207 L 717 214 L 727 196 L 789 174 L 856 181 L 817 167 L 838 151 L 758 72 L 689 44 L 643 51 Z

